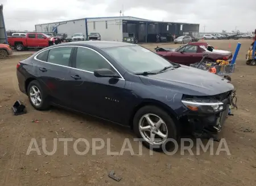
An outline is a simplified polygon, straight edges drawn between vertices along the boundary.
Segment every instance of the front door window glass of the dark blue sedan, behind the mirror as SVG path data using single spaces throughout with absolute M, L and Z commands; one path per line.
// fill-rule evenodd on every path
M 107 68 L 114 72 L 112 66 L 97 52 L 88 48 L 77 48 L 76 68 L 84 71 L 93 72 L 96 69 Z

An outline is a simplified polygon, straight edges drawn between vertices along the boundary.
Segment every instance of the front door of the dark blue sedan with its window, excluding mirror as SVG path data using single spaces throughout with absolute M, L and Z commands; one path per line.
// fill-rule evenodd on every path
M 76 110 L 101 118 L 118 121 L 116 117 L 125 105 L 125 80 L 123 78 L 96 77 L 93 71 L 101 68 L 111 69 L 112 65 L 99 53 L 90 48 L 77 47 L 76 57 L 71 69 L 72 104 Z

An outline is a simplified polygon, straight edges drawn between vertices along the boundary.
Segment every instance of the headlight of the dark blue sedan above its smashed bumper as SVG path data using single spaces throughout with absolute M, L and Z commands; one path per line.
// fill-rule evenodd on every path
M 181 100 L 183 104 L 192 111 L 198 111 L 200 113 L 217 113 L 224 110 L 224 104 L 218 100 L 199 100 L 189 99 Z

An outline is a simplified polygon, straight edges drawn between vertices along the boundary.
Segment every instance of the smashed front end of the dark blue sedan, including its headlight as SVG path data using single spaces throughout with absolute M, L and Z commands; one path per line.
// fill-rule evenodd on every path
M 218 100 L 214 98 L 214 101 L 208 103 L 201 102 L 201 105 L 204 105 L 203 109 L 199 106 L 193 106 L 192 104 L 185 104 L 188 111 L 183 115 L 181 121 L 187 123 L 185 128 L 189 130 L 189 133 L 191 133 L 193 137 L 219 140 L 217 135 L 222 130 L 225 120 L 229 115 L 230 107 L 236 107 L 236 103 L 234 102 L 236 92 L 230 91 L 218 96 L 220 96 Z M 200 98 L 200 100 L 201 99 L 202 98 Z M 211 97 L 210 99 L 213 98 Z M 195 98 L 193 100 L 195 100 Z M 203 100 L 205 100 L 205 98 L 203 98 Z

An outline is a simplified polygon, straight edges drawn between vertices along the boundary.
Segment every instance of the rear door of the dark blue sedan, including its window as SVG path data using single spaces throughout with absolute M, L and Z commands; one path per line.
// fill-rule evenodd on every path
M 70 106 L 71 56 L 74 47 L 55 47 L 36 56 L 36 72 L 44 90 L 55 104 Z

